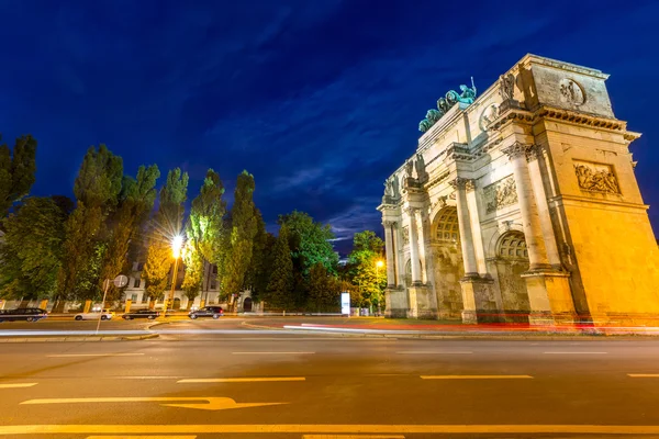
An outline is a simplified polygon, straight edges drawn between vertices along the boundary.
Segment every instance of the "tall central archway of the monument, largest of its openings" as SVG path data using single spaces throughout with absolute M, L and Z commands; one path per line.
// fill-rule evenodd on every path
M 465 275 L 465 266 L 455 206 L 445 206 L 435 216 L 431 248 L 439 316 L 460 317 L 463 308 L 460 279 Z

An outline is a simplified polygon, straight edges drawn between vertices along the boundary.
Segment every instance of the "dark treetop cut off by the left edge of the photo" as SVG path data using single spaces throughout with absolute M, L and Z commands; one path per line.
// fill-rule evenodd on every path
M 0 136 L 2 139 L 2 136 Z M 36 172 L 36 140 L 16 138 L 13 155 L 7 144 L 0 145 L 0 215 L 5 217 L 12 204 L 30 193 Z

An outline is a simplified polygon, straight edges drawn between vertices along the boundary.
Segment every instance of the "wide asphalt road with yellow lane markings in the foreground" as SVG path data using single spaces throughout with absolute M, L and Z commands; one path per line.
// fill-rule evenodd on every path
M 288 337 L 3 345 L 0 437 L 659 437 L 657 341 Z

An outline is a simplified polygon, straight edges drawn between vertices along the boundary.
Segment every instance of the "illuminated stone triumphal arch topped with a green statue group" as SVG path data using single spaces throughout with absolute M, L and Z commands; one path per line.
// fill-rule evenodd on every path
M 527 55 L 420 123 L 386 182 L 387 315 L 657 324 L 659 255 L 600 70 Z

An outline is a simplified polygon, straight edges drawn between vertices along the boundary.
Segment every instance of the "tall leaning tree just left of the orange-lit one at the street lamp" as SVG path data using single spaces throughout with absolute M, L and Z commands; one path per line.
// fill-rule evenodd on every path
M 156 181 L 160 171 L 156 165 L 141 166 L 137 178 L 124 177 L 119 205 L 109 217 L 108 250 L 104 255 L 101 281 L 129 271 L 131 244 L 139 241 L 142 229 L 154 207 Z M 108 301 L 119 300 L 120 291 L 110 284 Z

